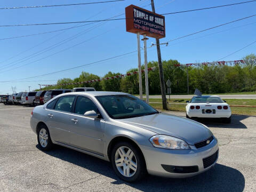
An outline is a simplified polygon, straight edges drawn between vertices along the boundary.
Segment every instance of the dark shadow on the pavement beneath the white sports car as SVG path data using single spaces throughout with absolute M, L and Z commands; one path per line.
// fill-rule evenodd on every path
M 246 115 L 232 115 L 231 123 L 224 123 L 223 119 L 218 118 L 197 118 L 193 119 L 197 122 L 203 123 L 210 127 L 221 127 L 221 128 L 231 128 L 231 129 L 247 129 L 247 127 L 241 122 L 250 116 Z

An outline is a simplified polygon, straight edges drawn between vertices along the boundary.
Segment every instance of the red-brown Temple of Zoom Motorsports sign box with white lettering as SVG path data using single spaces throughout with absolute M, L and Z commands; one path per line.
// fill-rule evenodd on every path
M 127 32 L 154 38 L 165 37 L 164 16 L 130 5 L 125 8 L 125 17 Z

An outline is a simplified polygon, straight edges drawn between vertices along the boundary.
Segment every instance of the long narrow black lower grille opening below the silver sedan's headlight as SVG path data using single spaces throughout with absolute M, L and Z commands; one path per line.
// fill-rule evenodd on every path
M 173 165 L 163 165 L 165 171 L 170 173 L 195 173 L 198 171 L 198 166 L 173 166 Z

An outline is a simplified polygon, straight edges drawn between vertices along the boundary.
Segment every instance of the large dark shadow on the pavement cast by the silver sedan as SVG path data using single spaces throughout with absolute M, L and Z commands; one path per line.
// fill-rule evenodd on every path
M 38 145 L 36 147 L 38 148 Z M 128 183 L 116 176 L 109 162 L 96 157 L 61 146 L 43 152 L 81 166 L 85 169 L 84 171 L 89 170 L 112 178 L 115 180 L 112 182 L 114 185 L 125 184 L 141 191 L 243 191 L 245 186 L 245 179 L 241 172 L 221 164 L 216 164 L 209 171 L 191 178 L 173 179 L 147 175 L 139 182 Z

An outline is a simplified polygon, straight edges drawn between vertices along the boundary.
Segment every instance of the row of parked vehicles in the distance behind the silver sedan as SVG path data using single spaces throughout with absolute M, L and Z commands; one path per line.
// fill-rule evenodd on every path
M 13 93 L 12 95 L 0 95 L 0 103 L 5 105 L 43 105 L 50 99 L 62 93 L 95 91 L 93 87 L 76 87 L 73 90 L 48 90 Z

